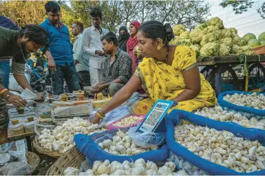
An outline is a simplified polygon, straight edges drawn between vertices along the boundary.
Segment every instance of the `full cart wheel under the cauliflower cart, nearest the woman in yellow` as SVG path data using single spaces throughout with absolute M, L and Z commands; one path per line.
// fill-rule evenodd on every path
M 229 66 L 218 66 L 206 78 L 209 81 L 216 94 L 224 91 L 238 90 L 240 82 L 235 71 Z

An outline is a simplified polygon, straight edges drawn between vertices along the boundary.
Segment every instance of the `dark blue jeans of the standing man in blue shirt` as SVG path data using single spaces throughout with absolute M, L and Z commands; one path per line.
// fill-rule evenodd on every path
M 52 74 L 52 90 L 54 91 L 54 95 L 63 94 L 64 80 L 67 83 L 70 93 L 80 90 L 74 62 L 69 66 L 67 63 L 65 66 L 56 65 L 56 71 Z

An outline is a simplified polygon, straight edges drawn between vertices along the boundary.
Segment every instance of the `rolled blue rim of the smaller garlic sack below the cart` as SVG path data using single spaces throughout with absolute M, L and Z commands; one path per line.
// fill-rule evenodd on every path
M 223 92 L 221 94 L 219 94 L 218 96 L 218 103 L 220 104 L 220 106 L 222 107 L 229 107 L 231 109 L 235 109 L 235 111 L 242 111 L 242 112 L 246 112 L 246 113 L 253 113 L 255 115 L 261 115 L 261 116 L 265 116 L 265 110 L 261 110 L 261 109 L 255 109 L 252 107 L 242 107 L 242 106 L 238 106 L 236 104 L 233 104 L 231 102 L 227 102 L 226 100 L 224 100 L 224 96 L 226 95 L 233 95 L 233 94 L 253 94 L 253 92 L 244 92 L 244 91 L 226 91 Z M 262 93 L 257 93 L 257 95 L 262 94 Z M 265 94 L 264 94 L 265 96 Z

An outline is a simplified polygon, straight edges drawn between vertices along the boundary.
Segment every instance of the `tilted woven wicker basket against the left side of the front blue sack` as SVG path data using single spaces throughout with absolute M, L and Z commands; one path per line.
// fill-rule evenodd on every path
M 65 152 L 59 159 L 52 164 L 47 170 L 46 175 L 63 175 L 63 170 L 67 167 L 79 168 L 81 163 L 85 160 L 85 155 L 78 151 L 76 146 Z

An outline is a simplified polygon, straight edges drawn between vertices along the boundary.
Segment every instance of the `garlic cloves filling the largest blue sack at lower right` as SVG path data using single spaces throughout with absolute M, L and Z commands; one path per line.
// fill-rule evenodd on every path
M 189 151 L 215 164 L 240 173 L 265 169 L 265 146 L 244 140 L 229 131 L 217 131 L 193 124 L 178 125 L 175 140 Z

